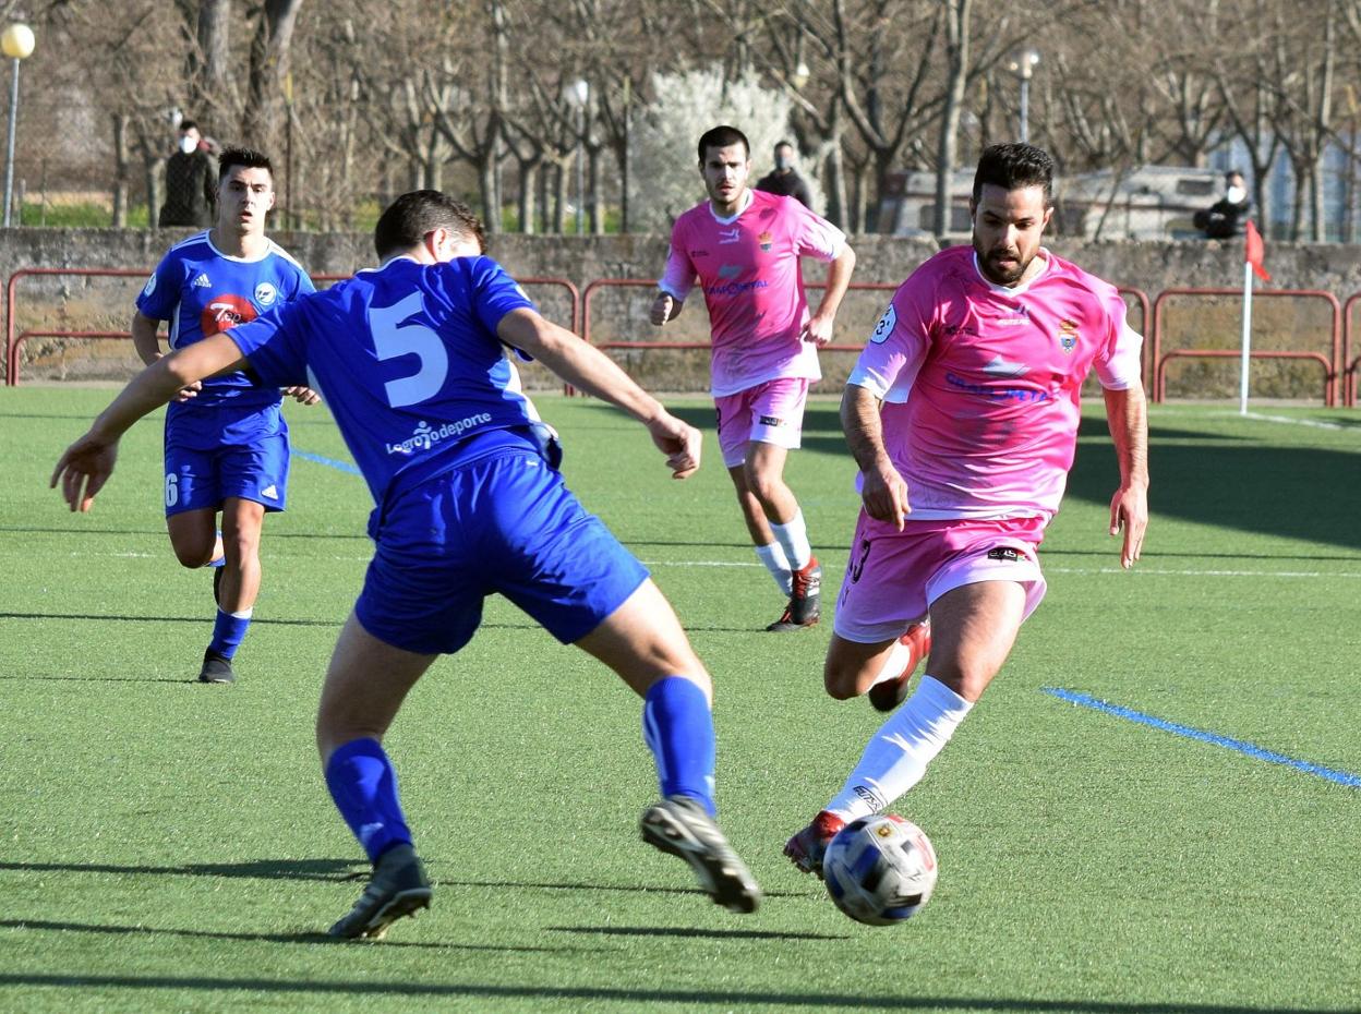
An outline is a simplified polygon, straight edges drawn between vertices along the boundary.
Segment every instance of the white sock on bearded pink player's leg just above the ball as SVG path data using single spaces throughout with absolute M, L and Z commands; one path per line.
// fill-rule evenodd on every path
M 864 747 L 827 810 L 845 821 L 887 808 L 921 781 L 973 705 L 938 681 L 923 675 L 916 693 L 896 710 Z

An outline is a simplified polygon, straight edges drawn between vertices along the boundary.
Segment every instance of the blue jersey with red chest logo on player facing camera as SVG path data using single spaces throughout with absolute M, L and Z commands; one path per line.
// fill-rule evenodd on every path
M 137 297 L 137 310 L 170 321 L 170 347 L 184 348 L 313 291 L 308 272 L 272 240 L 263 256 L 242 260 L 199 233 L 166 252 Z M 169 406 L 166 429 L 199 446 L 223 441 L 225 433 L 223 442 L 248 442 L 279 431 L 279 402 L 278 387 L 245 373 L 214 377 L 197 397 Z

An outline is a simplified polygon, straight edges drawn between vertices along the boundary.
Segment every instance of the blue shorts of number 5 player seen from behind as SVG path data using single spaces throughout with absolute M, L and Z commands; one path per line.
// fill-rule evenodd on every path
M 355 615 L 396 648 L 452 655 L 501 593 L 563 644 L 595 630 L 646 568 L 529 449 L 442 472 L 385 505 Z

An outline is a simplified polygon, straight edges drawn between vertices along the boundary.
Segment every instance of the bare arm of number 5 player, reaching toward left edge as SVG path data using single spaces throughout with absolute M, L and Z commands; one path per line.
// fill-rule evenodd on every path
M 118 440 L 147 412 L 169 402 L 177 391 L 207 377 L 245 366 L 241 350 L 226 335 L 212 335 L 188 348 L 171 353 L 128 381 L 116 399 L 94 421 L 90 431 L 68 446 L 52 472 L 52 489 L 72 510 L 88 510 L 95 494 L 113 474 Z

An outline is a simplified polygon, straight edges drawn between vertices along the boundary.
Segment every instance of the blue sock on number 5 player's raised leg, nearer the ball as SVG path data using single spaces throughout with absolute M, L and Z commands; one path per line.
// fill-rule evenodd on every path
M 666 676 L 642 700 L 642 738 L 657 762 L 664 796 L 690 796 L 713 817 L 713 715 L 704 690 Z

